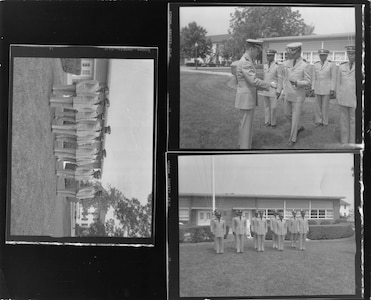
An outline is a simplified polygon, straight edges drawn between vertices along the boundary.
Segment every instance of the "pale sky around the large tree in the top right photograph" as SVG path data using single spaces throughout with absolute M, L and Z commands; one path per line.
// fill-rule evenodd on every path
M 293 7 L 293 10 L 296 9 L 306 24 L 315 26 L 315 34 L 355 32 L 354 8 Z M 207 35 L 227 34 L 230 14 L 234 10 L 233 6 L 181 7 L 179 25 L 182 28 L 195 21 L 207 30 Z

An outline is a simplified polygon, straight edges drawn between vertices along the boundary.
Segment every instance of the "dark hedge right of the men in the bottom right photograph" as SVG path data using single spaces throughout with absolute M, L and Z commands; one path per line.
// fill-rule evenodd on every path
M 354 234 L 351 224 L 311 225 L 308 239 L 330 240 L 350 237 Z

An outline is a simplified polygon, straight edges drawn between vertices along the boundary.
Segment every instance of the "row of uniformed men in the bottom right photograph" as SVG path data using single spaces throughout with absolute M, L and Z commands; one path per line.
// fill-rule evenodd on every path
M 235 247 L 237 253 L 243 253 L 245 249 L 246 233 L 250 230 L 253 237 L 254 249 L 258 252 L 265 250 L 265 237 L 268 233 L 268 227 L 272 234 L 273 249 L 279 251 L 284 250 L 284 241 L 287 233 L 290 235 L 291 248 L 296 248 L 296 243 L 299 238 L 299 249 L 306 249 L 306 239 L 309 232 L 308 219 L 305 216 L 305 211 L 300 212 L 301 216 L 296 216 L 296 211 L 292 211 L 292 217 L 289 220 L 283 218 L 282 213 L 275 211 L 269 222 L 264 217 L 263 211 L 256 211 L 251 219 L 250 228 L 249 221 L 242 216 L 242 211 L 236 211 L 236 217 L 232 219 L 232 232 L 235 239 Z M 226 223 L 221 217 L 221 212 L 215 210 L 214 218 L 211 219 L 210 229 L 214 235 L 215 250 L 217 254 L 224 253 L 224 237 L 226 235 Z M 268 224 L 269 223 L 269 224 Z

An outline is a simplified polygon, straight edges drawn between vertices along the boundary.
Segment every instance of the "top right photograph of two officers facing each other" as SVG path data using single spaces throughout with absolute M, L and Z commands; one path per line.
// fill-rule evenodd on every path
M 361 5 L 171 8 L 180 149 L 361 147 Z

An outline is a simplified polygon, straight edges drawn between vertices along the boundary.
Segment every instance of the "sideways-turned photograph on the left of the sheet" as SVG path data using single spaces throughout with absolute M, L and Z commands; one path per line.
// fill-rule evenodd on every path
M 11 58 L 7 241 L 150 239 L 157 49 Z

